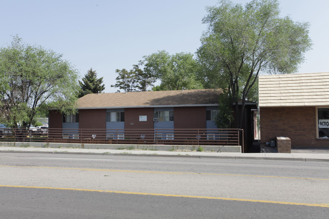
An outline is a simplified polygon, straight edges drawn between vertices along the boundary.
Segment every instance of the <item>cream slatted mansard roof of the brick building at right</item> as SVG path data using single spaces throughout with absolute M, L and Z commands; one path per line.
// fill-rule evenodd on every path
M 329 105 L 329 72 L 259 76 L 259 106 Z

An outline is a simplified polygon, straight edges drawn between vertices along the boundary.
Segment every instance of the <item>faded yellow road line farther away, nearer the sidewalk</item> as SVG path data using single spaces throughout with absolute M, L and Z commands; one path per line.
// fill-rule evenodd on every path
M 198 172 L 162 172 L 162 171 L 145 171 L 145 170 L 125 170 L 125 169 L 93 169 L 93 168 L 74 168 L 74 167 L 51 167 L 51 166 L 6 166 L 0 167 L 14 167 L 14 168 L 45 168 L 45 169 L 76 169 L 85 171 L 103 171 L 103 172 L 134 172 L 134 173 L 156 173 L 156 174 L 199 174 L 211 176 L 233 176 L 233 177 L 264 177 L 264 178 L 282 178 L 282 179 L 299 179 L 299 180 L 325 180 L 317 178 L 303 178 L 303 177 L 278 177 L 278 176 L 259 176 L 259 175 L 243 175 L 243 174 L 226 174 L 226 173 L 198 173 Z

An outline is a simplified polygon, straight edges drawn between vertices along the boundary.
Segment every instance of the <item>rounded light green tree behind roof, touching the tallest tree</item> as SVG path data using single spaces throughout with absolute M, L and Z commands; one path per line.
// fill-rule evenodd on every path
M 196 77 L 198 64 L 190 53 L 170 55 L 166 51 L 158 51 L 143 57 L 144 71 L 159 79 L 160 85 L 154 90 L 201 89 L 202 85 Z

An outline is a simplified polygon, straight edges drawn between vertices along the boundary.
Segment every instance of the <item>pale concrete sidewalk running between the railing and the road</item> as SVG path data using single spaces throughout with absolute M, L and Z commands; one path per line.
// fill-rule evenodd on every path
M 295 160 L 329 162 L 329 150 L 292 150 L 284 153 L 236 153 L 236 152 L 197 152 L 197 151 L 152 151 L 152 150 L 108 150 L 81 148 L 40 148 L 40 147 L 3 147 L 0 153 L 51 153 L 51 154 L 86 154 L 112 156 L 154 156 L 154 157 L 191 157 L 254 160 Z M 1 156 L 1 155 L 0 155 Z

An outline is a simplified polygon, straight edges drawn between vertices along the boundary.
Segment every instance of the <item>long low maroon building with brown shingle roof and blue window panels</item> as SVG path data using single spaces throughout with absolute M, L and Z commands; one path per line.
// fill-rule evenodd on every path
M 89 94 L 78 100 L 78 114 L 49 113 L 50 128 L 157 129 L 159 138 L 172 138 L 168 129 L 217 128 L 214 120 L 220 90 L 152 91 Z M 165 130 L 166 129 L 166 130 Z M 72 132 L 70 132 L 72 134 Z M 65 137 L 63 130 L 63 137 Z M 106 138 L 124 138 L 124 133 Z

